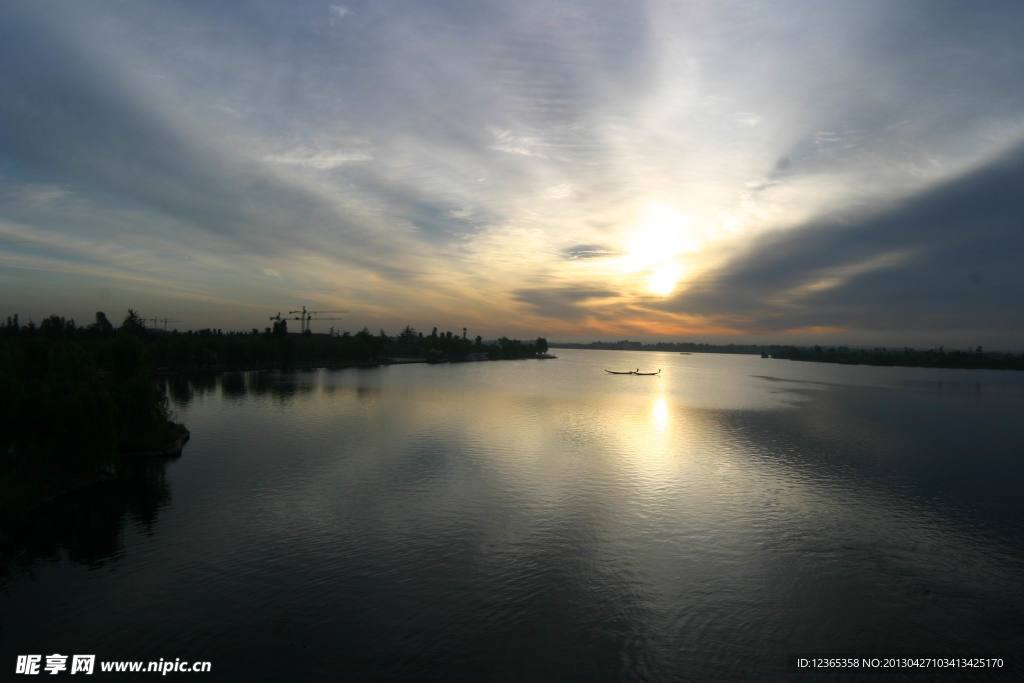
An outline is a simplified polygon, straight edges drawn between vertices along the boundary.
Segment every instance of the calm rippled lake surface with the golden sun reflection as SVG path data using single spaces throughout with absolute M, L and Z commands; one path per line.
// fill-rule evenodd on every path
M 6 562 L 0 679 L 51 652 L 700 681 L 1024 650 L 1024 374 L 558 354 L 172 383 L 184 456 Z

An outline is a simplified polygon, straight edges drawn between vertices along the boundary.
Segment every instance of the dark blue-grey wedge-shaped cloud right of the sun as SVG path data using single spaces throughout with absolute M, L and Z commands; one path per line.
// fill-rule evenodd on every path
M 762 331 L 1011 344 L 1024 332 L 1024 145 L 908 200 L 755 240 L 665 307 Z

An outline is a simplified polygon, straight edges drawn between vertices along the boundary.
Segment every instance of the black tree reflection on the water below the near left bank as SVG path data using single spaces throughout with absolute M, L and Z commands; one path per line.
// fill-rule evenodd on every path
M 0 552 L 0 585 L 12 569 L 37 560 L 67 557 L 98 566 L 124 547 L 125 520 L 155 531 L 160 510 L 171 502 L 166 461 L 144 460 L 121 468 L 118 478 L 66 496 L 33 513 Z

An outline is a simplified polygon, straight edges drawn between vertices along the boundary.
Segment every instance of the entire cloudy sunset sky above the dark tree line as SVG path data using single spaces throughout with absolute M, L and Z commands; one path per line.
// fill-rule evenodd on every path
M 1016 0 L 4 2 L 0 314 L 1019 348 L 1021 36 Z

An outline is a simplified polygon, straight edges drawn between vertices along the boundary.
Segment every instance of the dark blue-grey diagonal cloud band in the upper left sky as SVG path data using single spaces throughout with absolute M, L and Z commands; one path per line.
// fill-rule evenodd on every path
M 280 244 L 278 229 L 296 219 L 324 219 L 315 197 L 190 137 L 72 43 L 44 48 L 13 28 L 5 33 L 5 76 L 20 95 L 0 109 L 2 142 L 29 172 L 256 249 Z

